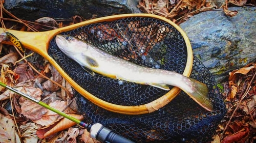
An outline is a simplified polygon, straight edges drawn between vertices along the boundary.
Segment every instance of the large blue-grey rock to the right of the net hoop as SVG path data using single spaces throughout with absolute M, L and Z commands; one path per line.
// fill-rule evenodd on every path
M 256 8 L 233 7 L 228 17 L 222 10 L 199 13 L 180 24 L 195 56 L 215 75 L 217 82 L 228 72 L 256 61 Z

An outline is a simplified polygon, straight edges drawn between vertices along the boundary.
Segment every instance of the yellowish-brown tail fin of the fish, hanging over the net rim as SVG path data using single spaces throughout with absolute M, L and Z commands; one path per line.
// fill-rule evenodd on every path
M 211 101 L 208 98 L 207 85 L 189 77 L 187 77 L 186 80 L 188 80 L 187 83 L 189 83 L 189 88 L 181 89 L 193 100 L 195 100 L 200 106 L 208 111 L 212 111 L 213 107 Z

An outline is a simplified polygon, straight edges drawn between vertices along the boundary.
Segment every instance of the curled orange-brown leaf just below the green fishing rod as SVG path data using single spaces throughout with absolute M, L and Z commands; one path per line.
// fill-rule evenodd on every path
M 83 120 L 82 115 L 70 114 L 69 116 L 74 117 L 78 120 Z M 56 121 L 53 124 L 51 124 L 45 128 L 41 128 L 41 129 L 37 130 L 36 135 L 39 138 L 45 138 L 45 137 L 52 135 L 54 133 L 57 133 L 59 131 L 70 128 L 70 127 L 74 126 L 75 124 L 76 124 L 75 122 L 70 121 L 69 119 L 62 118 L 60 121 Z

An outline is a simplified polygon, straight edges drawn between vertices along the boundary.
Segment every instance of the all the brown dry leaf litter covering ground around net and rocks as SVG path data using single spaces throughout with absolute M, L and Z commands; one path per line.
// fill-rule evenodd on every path
M 1 4 L 4 3 L 3 0 L 0 2 Z M 229 11 L 228 7 L 230 6 L 255 6 L 253 1 L 246 0 L 229 0 L 223 2 L 221 6 L 217 6 L 216 2 L 214 0 L 140 0 L 138 7 L 144 13 L 160 15 L 180 24 L 203 11 L 224 11 L 227 16 L 232 17 L 237 14 L 237 11 Z M 76 15 L 69 19 L 58 20 L 42 17 L 31 22 L 18 19 L 4 7 L 2 8 L 3 12 L 12 17 L 2 17 L 3 27 L 5 27 L 3 20 L 8 20 L 5 22 L 7 28 L 19 31 L 49 31 L 85 20 Z M 92 18 L 96 16 L 93 15 Z M 6 40 L 1 35 L 0 41 Z M 20 52 L 16 50 L 17 48 L 14 46 L 1 44 L 0 81 L 82 120 L 82 116 L 78 115 L 75 102 L 72 102 L 74 97 L 70 84 L 60 76 L 56 69 L 37 53 L 16 63 L 23 58 Z M 254 63 L 234 70 L 230 73 L 228 81 L 221 84 L 224 91 L 223 99 L 226 101 L 228 112 L 216 130 L 212 142 L 253 142 L 256 140 L 256 81 L 253 76 L 256 71 L 255 67 Z M 0 105 L 6 105 L 11 98 L 13 107 L 13 112 L 8 116 L 3 116 L 1 112 L 6 115 L 7 110 L 0 108 L 0 116 L 3 117 L 0 118 L 2 119 L 0 124 L 3 124 L 1 126 L 12 127 L 12 130 L 0 131 L 0 140 L 11 138 L 12 141 L 15 139 L 16 142 L 21 142 L 20 139 L 23 142 L 98 142 L 90 137 L 86 129 L 79 128 L 73 122 L 56 115 L 56 113 L 32 104 L 31 101 L 6 91 L 2 87 L 0 87 L 0 92 Z

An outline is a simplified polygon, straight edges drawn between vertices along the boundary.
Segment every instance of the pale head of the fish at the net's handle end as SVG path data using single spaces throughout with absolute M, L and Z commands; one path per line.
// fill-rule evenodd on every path
M 56 44 L 59 49 L 67 55 L 86 52 L 87 44 L 70 35 L 56 35 Z M 83 45 L 81 47 L 81 45 Z

